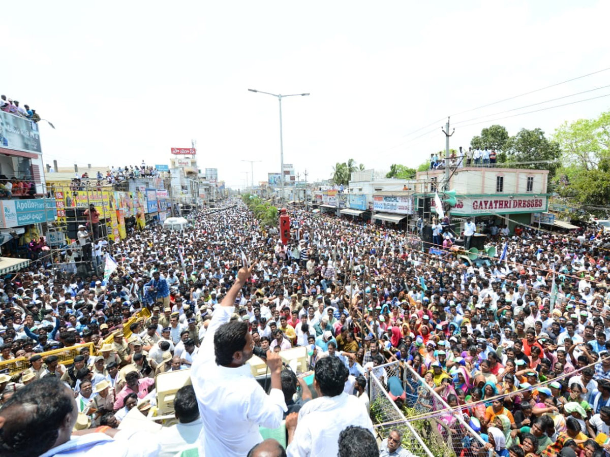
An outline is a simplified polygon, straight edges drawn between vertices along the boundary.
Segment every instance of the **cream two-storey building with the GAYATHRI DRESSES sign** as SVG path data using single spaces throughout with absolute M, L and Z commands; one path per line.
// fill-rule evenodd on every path
M 478 230 L 484 232 L 492 224 L 506 224 L 512 232 L 519 224 L 531 224 L 534 214 L 548 210 L 548 170 L 520 168 L 466 167 L 452 169 L 447 189 L 456 191 L 457 204 L 451 208 L 451 221 L 460 222 L 472 217 Z M 416 191 L 418 213 L 426 221 L 436 215 L 434 194 L 441 192 L 445 170 L 417 173 Z

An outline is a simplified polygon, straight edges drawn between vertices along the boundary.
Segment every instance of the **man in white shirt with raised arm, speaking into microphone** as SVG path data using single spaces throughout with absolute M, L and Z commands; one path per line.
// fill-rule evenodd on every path
M 254 265 L 243 267 L 207 327 L 201 354 L 195 358 L 191 380 L 206 435 L 200 436 L 205 455 L 242 457 L 263 441 L 259 426 L 278 428 L 287 411 L 282 393 L 282 360 L 267 352 L 271 391 L 265 394 L 247 361 L 254 341 L 244 321 L 230 321 L 235 297 L 252 274 Z M 216 341 L 215 341 L 216 340 Z

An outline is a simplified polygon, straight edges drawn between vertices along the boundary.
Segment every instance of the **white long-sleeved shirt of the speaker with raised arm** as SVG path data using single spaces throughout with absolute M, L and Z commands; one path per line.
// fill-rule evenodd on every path
M 278 428 L 287 411 L 281 389 L 265 394 L 252 376 L 248 364 L 239 368 L 218 366 L 214 355 L 214 334 L 231 319 L 234 306 L 218 306 L 207 327 L 201 355 L 192 366 L 191 380 L 199 413 L 203 419 L 205 455 L 243 457 L 263 441 L 259 425 Z

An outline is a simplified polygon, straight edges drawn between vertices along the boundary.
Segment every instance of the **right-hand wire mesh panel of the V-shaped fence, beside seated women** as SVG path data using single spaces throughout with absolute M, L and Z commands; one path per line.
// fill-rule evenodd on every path
M 451 409 L 450 406 L 425 383 L 411 366 L 401 366 L 403 386 L 407 394 L 404 408 L 406 417 L 422 416 L 423 414 L 434 414 L 434 411 L 442 411 L 436 416 L 426 419 L 414 419 L 414 422 L 427 421 L 432 429 L 440 436 L 440 441 L 447 447 L 446 455 L 464 457 L 493 457 L 495 452 L 484 450 L 486 442 L 480 434 L 468 425 L 460 408 Z M 411 414 L 409 414 L 411 413 Z

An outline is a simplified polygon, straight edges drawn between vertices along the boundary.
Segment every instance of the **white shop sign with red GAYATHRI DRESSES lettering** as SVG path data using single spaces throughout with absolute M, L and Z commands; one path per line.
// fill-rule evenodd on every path
M 546 196 L 531 197 L 462 197 L 451 211 L 455 216 L 475 214 L 544 213 L 547 211 Z

